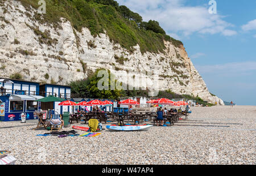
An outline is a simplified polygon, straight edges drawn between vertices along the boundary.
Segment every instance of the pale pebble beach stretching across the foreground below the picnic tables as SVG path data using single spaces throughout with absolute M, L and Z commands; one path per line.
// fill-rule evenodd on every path
M 106 125 L 111 123 L 102 122 L 105 130 L 96 137 L 36 136 L 49 132 L 32 130 L 37 120 L 0 122 L 0 151 L 11 151 L 18 165 L 256 164 L 256 106 L 191 110 L 188 119 L 174 126 L 152 126 L 148 131 L 109 131 Z M 88 127 L 79 122 L 64 130 L 73 130 L 73 125 Z

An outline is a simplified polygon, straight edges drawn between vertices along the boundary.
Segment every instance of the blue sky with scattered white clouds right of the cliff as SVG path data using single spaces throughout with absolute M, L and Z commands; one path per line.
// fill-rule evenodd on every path
M 211 93 L 256 105 L 256 1 L 117 0 L 181 40 Z

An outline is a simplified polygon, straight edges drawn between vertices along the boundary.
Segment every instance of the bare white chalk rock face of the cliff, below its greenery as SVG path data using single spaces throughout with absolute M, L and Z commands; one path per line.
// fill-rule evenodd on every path
M 0 6 L 1 77 L 19 72 L 28 81 L 68 84 L 86 78 L 97 68 L 106 68 L 118 80 L 141 83 L 137 87 L 170 89 L 224 105 L 220 98 L 210 95 L 182 45 L 175 47 L 165 41 L 165 53 L 159 54 L 142 54 L 137 45 L 130 53 L 110 42 L 105 33 L 93 37 L 89 29 L 76 31 L 65 19 L 61 19 L 60 28 L 54 28 L 37 22 L 34 14 L 17 1 L 5 1 Z M 118 61 L 121 57 L 125 58 L 123 63 Z M 147 81 L 139 81 L 141 77 Z

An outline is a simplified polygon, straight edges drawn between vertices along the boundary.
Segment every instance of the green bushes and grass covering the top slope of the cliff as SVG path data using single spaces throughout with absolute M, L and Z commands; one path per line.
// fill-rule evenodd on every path
M 38 0 L 18 0 L 30 11 L 30 5 L 38 9 Z M 159 53 L 166 48 L 164 40 L 172 42 L 176 47 L 183 45 L 181 41 L 166 35 L 159 23 L 150 20 L 143 22 L 142 17 L 129 10 L 126 6 L 119 6 L 113 0 L 45 0 L 46 14 L 35 14 L 33 17 L 40 23 L 48 23 L 61 28 L 60 18 L 71 22 L 73 28 L 81 32 L 83 27 L 90 30 L 96 37 L 105 33 L 114 43 L 133 51 L 133 46 L 139 45 L 141 52 Z M 27 13 L 28 14 L 28 13 Z

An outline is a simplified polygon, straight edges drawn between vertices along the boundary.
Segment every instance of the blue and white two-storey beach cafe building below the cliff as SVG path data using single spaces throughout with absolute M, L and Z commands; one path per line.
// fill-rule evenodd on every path
M 3 80 L 4 78 L 0 78 Z M 47 110 L 47 105 L 38 102 L 40 98 L 53 95 L 61 98 L 71 97 L 71 87 L 63 85 L 43 84 L 36 82 L 7 79 L 0 81 L 0 121 L 20 121 L 22 117 L 26 119 L 36 119 L 35 110 Z M 48 104 L 50 109 L 61 109 L 59 102 L 53 105 Z M 61 109 L 62 111 L 62 109 Z

